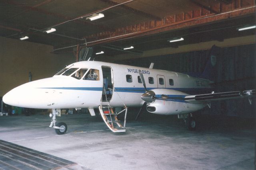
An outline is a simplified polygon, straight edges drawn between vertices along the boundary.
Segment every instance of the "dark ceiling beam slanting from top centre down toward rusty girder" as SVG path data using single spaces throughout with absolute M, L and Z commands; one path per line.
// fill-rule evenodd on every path
M 118 6 L 124 8 L 124 9 L 126 9 L 126 10 L 132 11 L 132 12 L 134 12 L 134 13 L 136 13 L 136 14 L 139 14 L 139 15 L 142 15 L 142 16 L 146 16 L 146 17 L 148 17 L 148 18 L 150 18 L 150 19 L 162 20 L 162 18 L 160 18 L 160 17 L 158 17 L 158 16 L 155 16 L 155 15 L 152 15 L 152 14 L 148 14 L 148 13 L 143 12 L 143 11 L 140 11 L 140 10 L 136 10 L 136 9 L 134 9 L 134 8 L 132 8 L 132 7 L 129 7 L 129 6 L 126 6 L 126 5 L 124 5 L 124 4 L 120 5 L 119 3 L 114 2 L 114 1 L 112 1 L 112 0 L 100 0 L 100 1 L 106 2 L 106 3 L 108 3 L 108 4 L 112 4 L 112 5 L 114 5 L 114 6 L 118 5 Z

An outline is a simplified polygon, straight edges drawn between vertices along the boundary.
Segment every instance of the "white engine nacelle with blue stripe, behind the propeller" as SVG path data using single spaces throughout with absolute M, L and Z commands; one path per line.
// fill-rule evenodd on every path
M 154 100 L 146 107 L 150 113 L 176 115 L 191 113 L 206 106 L 206 104 L 191 104 L 184 101 L 185 96 L 188 94 L 177 90 L 153 89 L 150 91 L 148 91 L 148 94 L 154 94 Z

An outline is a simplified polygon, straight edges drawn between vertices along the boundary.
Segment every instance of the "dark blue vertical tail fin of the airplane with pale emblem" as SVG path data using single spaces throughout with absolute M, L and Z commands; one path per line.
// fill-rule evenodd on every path
M 217 57 L 220 56 L 221 53 L 221 47 L 218 47 L 216 45 L 213 45 L 210 49 L 209 59 L 205 65 L 204 71 L 200 75 L 200 78 L 208 79 L 215 81 L 216 75 L 217 75 Z

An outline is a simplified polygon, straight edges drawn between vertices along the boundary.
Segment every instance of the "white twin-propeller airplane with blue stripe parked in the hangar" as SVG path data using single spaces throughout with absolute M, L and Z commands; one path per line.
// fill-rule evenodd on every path
M 254 96 L 255 90 L 214 93 L 212 81 L 186 74 L 98 61 L 70 64 L 51 78 L 18 86 L 3 96 L 11 106 L 52 109 L 50 117 L 57 134 L 64 134 L 67 125 L 57 123 L 60 109 L 88 108 L 95 115 L 99 108 L 104 122 L 113 132 L 124 132 L 128 107 L 143 107 L 150 113 L 178 115 L 188 129 L 194 130 L 192 114 L 214 100 Z M 114 113 L 114 107 L 124 107 Z M 124 125 L 118 115 L 125 112 Z M 140 109 L 138 115 L 142 112 Z M 138 117 L 137 115 L 137 117 Z

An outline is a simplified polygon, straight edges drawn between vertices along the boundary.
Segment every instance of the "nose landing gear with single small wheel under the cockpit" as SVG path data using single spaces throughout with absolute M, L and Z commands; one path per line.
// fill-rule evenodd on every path
M 64 135 L 68 127 L 64 122 L 57 123 L 56 116 L 60 116 L 60 109 L 52 109 L 52 113 L 50 113 L 50 117 L 52 117 L 52 122 L 49 127 L 54 128 L 55 132 L 58 135 Z

